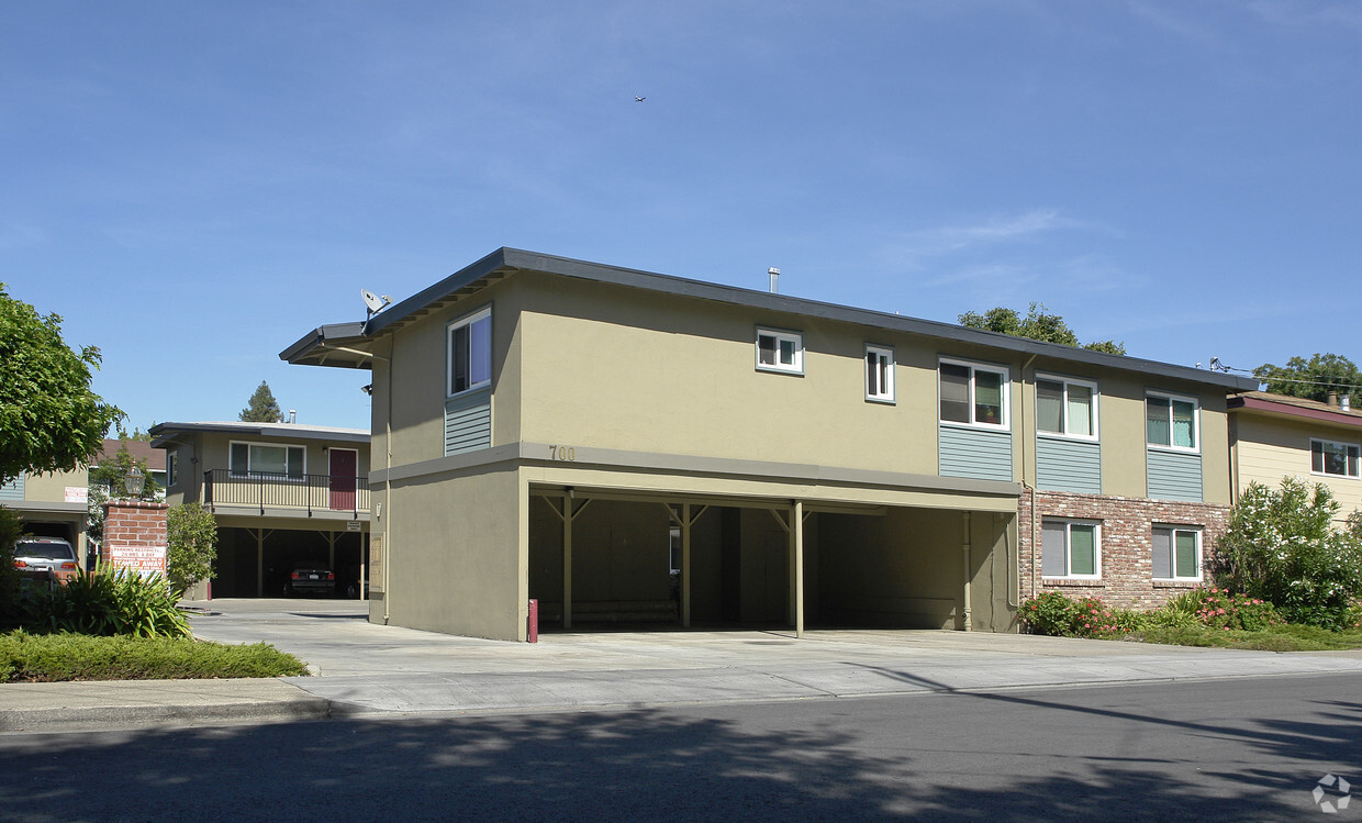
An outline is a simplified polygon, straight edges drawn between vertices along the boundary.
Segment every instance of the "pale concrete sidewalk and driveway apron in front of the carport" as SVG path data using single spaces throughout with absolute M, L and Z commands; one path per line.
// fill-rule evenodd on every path
M 281 680 L 0 685 L 0 730 L 553 711 L 1219 677 L 1362 674 L 1362 651 L 1272 654 L 951 631 L 549 632 L 368 623 L 353 601 L 214 601 L 195 634 L 306 661 Z

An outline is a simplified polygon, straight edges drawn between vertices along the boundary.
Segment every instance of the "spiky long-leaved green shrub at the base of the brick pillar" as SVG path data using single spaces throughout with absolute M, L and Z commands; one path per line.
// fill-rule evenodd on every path
M 83 635 L 188 638 L 189 621 L 176 606 L 178 593 L 159 574 L 143 578 L 125 568 L 95 567 L 79 572 L 65 586 L 39 594 L 39 631 Z

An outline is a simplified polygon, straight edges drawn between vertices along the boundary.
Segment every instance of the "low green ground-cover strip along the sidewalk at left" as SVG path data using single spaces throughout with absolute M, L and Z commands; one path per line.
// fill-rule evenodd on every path
M 184 680 L 305 674 L 306 666 L 267 643 L 226 646 L 191 638 L 0 635 L 0 683 Z

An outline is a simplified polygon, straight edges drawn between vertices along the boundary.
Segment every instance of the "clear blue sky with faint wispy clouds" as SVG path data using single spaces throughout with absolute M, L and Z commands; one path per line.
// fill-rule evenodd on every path
M 501 245 L 1362 360 L 1357 3 L 5 3 L 0 150 L 0 281 L 129 429 L 368 428 L 278 353 Z

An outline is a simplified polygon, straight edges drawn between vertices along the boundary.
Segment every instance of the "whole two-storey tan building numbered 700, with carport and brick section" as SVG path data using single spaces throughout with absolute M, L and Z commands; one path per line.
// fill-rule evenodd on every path
M 500 249 L 296 364 L 373 371 L 370 619 L 1013 631 L 1160 602 L 1252 380 Z M 385 548 L 385 550 L 380 550 Z

